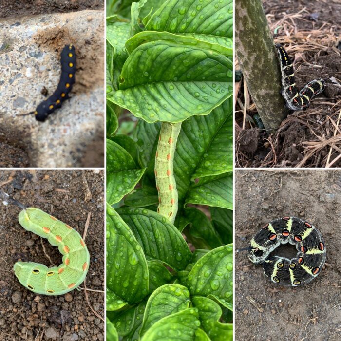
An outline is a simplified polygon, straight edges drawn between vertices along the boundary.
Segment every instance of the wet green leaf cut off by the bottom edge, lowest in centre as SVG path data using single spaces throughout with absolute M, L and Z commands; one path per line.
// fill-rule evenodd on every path
M 193 341 L 199 326 L 197 309 L 186 309 L 154 323 L 141 341 Z

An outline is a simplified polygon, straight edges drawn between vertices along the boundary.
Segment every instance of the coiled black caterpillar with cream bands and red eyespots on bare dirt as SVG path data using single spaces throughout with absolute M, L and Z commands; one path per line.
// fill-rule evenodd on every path
M 296 258 L 269 254 L 281 244 L 295 245 Z M 266 277 L 284 286 L 299 286 L 314 279 L 325 262 L 325 244 L 320 231 L 299 218 L 285 217 L 266 224 L 251 239 L 248 258 L 254 264 L 262 264 Z

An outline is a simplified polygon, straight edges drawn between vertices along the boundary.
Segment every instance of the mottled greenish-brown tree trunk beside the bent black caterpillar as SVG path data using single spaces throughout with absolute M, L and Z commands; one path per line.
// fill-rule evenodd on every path
M 236 0 L 235 51 L 265 129 L 276 130 L 289 110 L 280 94 L 277 52 L 261 0 Z

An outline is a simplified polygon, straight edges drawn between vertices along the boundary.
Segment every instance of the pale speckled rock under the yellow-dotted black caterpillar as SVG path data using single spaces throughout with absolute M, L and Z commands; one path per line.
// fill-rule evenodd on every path
M 103 167 L 103 11 L 6 19 L 0 21 L 0 31 L 0 145 L 9 146 L 9 155 L 1 148 L 0 166 L 22 167 L 26 162 L 31 167 Z M 61 72 L 60 52 L 69 43 L 77 56 L 71 99 L 45 122 L 20 116 L 47 98 L 44 89 L 53 94 Z M 94 150 L 95 156 L 89 153 Z

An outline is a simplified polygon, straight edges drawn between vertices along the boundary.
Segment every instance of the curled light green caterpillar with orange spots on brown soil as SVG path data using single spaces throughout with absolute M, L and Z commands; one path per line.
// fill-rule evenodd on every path
M 17 262 L 14 273 L 20 284 L 42 295 L 63 295 L 81 284 L 88 272 L 90 255 L 79 233 L 39 208 L 26 208 L 2 192 L 3 197 L 22 208 L 19 224 L 27 231 L 58 246 L 62 264 L 54 267 L 33 262 Z

